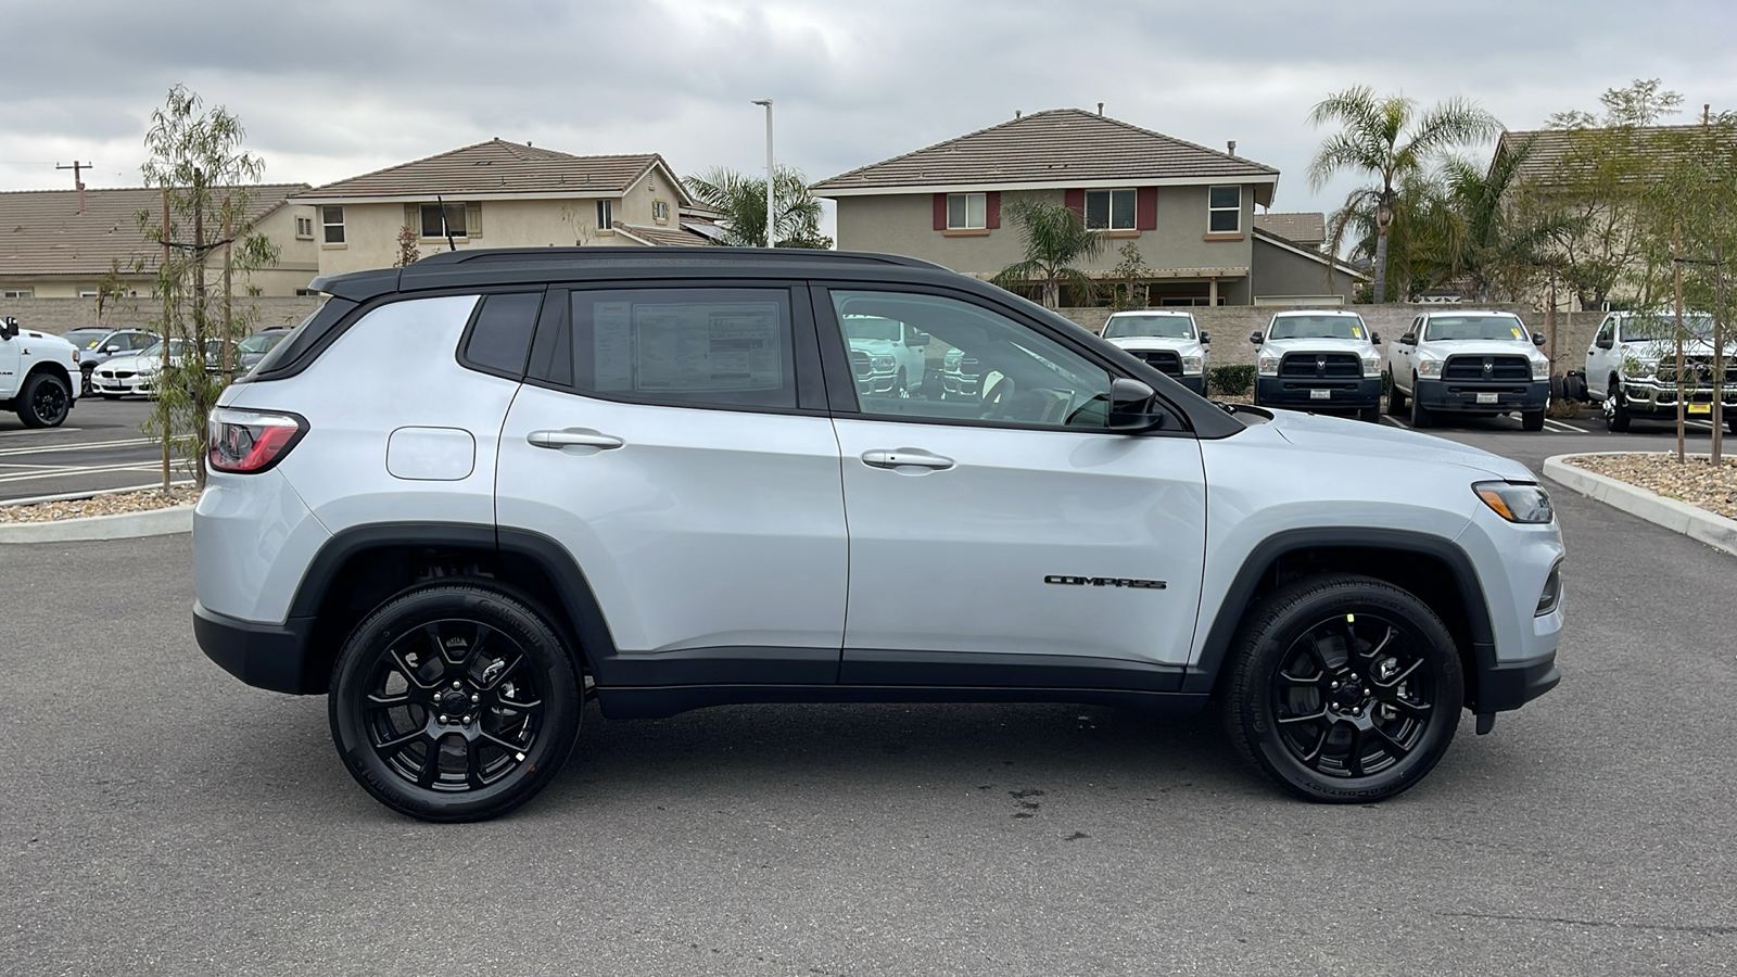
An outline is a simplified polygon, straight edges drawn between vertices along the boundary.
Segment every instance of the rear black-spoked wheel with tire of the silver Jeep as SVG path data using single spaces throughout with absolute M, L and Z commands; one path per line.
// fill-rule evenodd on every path
M 422 821 L 483 821 L 544 789 L 573 749 L 582 699 L 544 615 L 481 582 L 408 589 L 332 668 L 332 741 L 351 777 Z

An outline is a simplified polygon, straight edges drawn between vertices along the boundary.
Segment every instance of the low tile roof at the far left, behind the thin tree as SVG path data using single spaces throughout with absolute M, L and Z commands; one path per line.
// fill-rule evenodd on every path
M 306 183 L 248 186 L 254 219 L 283 205 Z M 0 278 L 43 275 L 96 276 L 118 261 L 129 271 L 135 257 L 155 268 L 158 245 L 139 229 L 139 210 L 156 212 L 162 191 L 149 186 L 85 189 L 78 212 L 76 189 L 16 189 L 0 193 Z

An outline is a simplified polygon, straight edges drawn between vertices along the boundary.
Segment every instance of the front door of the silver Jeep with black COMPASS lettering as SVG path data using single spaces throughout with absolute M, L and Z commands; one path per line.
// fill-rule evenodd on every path
M 1178 417 L 1108 431 L 1105 367 L 964 296 L 816 290 L 816 315 L 834 356 L 853 323 L 928 336 L 912 389 L 858 388 L 839 412 L 832 388 L 851 532 L 842 681 L 1060 685 L 1075 669 L 1093 683 L 1186 662 L 1205 487 Z

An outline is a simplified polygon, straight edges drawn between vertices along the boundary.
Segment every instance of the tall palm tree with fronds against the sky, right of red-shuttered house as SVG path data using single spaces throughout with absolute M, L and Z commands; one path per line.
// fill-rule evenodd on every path
M 1419 174 L 1424 163 L 1449 146 L 1489 139 L 1501 132 L 1496 116 L 1466 99 L 1438 103 L 1417 115 L 1417 103 L 1403 96 L 1376 97 L 1367 85 L 1327 96 L 1308 115 L 1310 125 L 1341 123 L 1320 144 L 1308 167 L 1310 188 L 1320 189 L 1334 174 L 1351 170 L 1372 176 L 1379 186 L 1353 191 L 1343 210 L 1370 203 L 1376 210 L 1376 285 L 1377 302 L 1386 301 L 1388 229 L 1393 224 L 1395 188 L 1407 174 Z M 1337 243 L 1337 242 L 1334 242 Z

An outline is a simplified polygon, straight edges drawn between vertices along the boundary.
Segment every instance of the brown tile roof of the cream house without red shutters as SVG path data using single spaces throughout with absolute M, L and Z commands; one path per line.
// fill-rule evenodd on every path
M 302 198 L 433 200 L 438 193 L 488 200 L 516 195 L 615 195 L 624 193 L 655 165 L 669 174 L 677 198 L 686 203 L 686 189 L 664 156 L 657 153 L 573 156 L 500 139 L 316 186 Z

